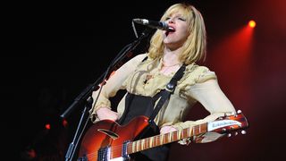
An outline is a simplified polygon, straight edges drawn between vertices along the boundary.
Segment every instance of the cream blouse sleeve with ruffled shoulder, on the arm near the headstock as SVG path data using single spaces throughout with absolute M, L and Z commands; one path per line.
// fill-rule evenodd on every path
M 198 124 L 214 121 L 224 114 L 235 113 L 235 109 L 232 106 L 231 101 L 224 95 L 222 89 L 219 87 L 214 72 L 211 72 L 208 69 L 203 70 L 201 74 L 198 74 L 197 79 L 195 79 L 195 83 L 193 85 L 189 85 L 187 89 L 186 95 L 196 99 L 206 108 L 209 115 L 201 120 L 180 122 L 172 125 L 179 131 Z M 209 142 L 220 137 L 211 135 L 210 133 L 207 133 L 206 135 L 208 135 L 209 138 L 205 137 L 205 141 L 203 140 L 201 142 Z M 185 144 L 184 141 L 181 141 L 180 143 Z

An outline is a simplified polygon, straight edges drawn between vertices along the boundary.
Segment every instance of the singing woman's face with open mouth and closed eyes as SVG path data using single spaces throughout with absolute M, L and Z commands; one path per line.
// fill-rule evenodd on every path
M 163 31 L 163 42 L 165 47 L 175 50 L 181 47 L 189 36 L 188 21 L 180 12 L 173 13 L 166 18 L 168 25 L 174 31 Z

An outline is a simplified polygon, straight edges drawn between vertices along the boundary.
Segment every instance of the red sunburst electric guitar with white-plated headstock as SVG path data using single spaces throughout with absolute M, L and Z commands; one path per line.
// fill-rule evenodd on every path
M 111 120 L 102 120 L 90 126 L 82 138 L 79 160 L 94 161 L 123 161 L 129 160 L 130 154 L 161 146 L 178 140 L 195 137 L 206 132 L 218 132 L 221 134 L 241 130 L 244 134 L 248 127 L 246 117 L 239 110 L 237 114 L 225 115 L 214 122 L 203 123 L 182 131 L 172 131 L 135 140 L 148 126 L 146 116 L 138 116 L 130 123 L 121 126 Z

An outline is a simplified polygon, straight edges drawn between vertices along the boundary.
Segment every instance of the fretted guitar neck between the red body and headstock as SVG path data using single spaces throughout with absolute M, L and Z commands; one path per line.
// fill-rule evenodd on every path
M 131 141 L 127 146 L 127 153 L 132 154 L 147 148 L 154 148 L 174 141 L 183 140 L 201 133 L 206 133 L 207 123 L 199 124 L 182 131 L 172 131 L 161 135 L 156 135 L 142 140 Z

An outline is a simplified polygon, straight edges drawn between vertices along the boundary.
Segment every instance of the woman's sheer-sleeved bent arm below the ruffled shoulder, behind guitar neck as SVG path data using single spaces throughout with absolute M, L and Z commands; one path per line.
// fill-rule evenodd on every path
M 224 114 L 235 113 L 235 109 L 231 101 L 224 95 L 222 89 L 219 87 L 217 80 L 206 80 L 205 82 L 196 83 L 189 89 L 189 96 L 198 100 L 202 106 L 210 113 L 204 119 L 198 121 L 187 121 L 184 123 L 176 123 L 173 125 L 177 130 L 187 127 L 192 127 L 198 124 L 214 121 Z M 204 137 L 198 137 L 196 142 L 209 142 L 217 140 L 223 136 L 216 132 L 206 132 Z M 194 138 L 195 139 L 195 138 Z M 189 144 L 188 140 L 180 141 L 181 144 Z

